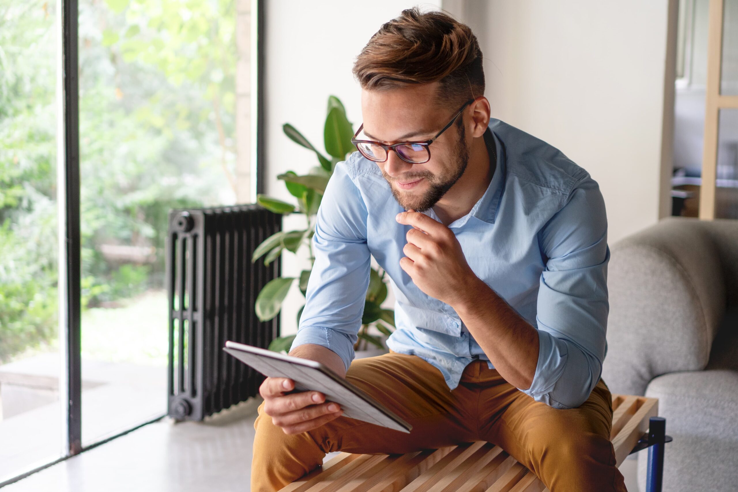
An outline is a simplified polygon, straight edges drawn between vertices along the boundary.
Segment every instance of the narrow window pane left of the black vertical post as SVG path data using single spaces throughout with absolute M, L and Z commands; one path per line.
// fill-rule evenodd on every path
M 56 20 L 0 0 L 0 482 L 61 456 Z

